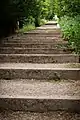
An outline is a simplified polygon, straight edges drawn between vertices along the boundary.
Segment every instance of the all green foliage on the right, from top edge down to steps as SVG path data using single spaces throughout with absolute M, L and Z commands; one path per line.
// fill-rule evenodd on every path
M 80 0 L 55 0 L 55 14 L 60 18 L 63 38 L 80 54 Z

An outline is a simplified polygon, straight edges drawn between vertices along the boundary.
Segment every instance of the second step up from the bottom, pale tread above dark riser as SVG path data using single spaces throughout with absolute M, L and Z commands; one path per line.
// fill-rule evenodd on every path
M 0 63 L 0 79 L 80 80 L 80 64 Z

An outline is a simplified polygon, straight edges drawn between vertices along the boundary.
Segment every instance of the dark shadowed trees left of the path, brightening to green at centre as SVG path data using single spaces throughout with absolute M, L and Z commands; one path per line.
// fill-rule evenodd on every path
M 14 33 L 25 22 L 39 26 L 40 19 L 54 16 L 53 0 L 2 0 L 0 1 L 0 35 Z

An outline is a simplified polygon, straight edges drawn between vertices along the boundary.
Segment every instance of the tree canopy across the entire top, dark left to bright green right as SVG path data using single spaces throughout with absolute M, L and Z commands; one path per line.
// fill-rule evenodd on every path
M 80 0 L 2 0 L 0 1 L 0 34 L 14 32 L 17 21 L 40 25 L 41 19 L 80 14 Z

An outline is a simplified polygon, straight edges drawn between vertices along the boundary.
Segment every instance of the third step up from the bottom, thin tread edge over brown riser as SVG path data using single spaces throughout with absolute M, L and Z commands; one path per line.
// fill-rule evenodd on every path
M 79 63 L 75 54 L 0 54 L 4 63 Z

